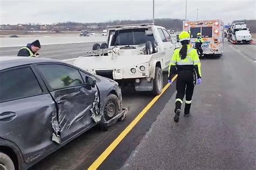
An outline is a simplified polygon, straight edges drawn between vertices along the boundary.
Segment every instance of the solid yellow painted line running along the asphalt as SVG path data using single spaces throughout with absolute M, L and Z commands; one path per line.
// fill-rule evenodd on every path
M 172 82 L 177 78 L 177 75 L 172 78 Z M 167 83 L 163 88 L 160 95 L 153 98 L 153 100 L 147 104 L 147 106 L 140 112 L 140 114 L 125 128 L 125 130 L 119 134 L 119 136 L 114 139 L 114 141 L 106 148 L 106 150 L 93 162 L 93 164 L 88 169 L 97 169 L 102 162 L 109 156 L 109 154 L 117 147 L 117 145 L 125 138 L 125 136 L 132 130 L 132 128 L 139 122 L 139 120 L 146 114 L 146 112 L 152 107 L 154 103 L 164 94 L 166 89 L 170 86 Z

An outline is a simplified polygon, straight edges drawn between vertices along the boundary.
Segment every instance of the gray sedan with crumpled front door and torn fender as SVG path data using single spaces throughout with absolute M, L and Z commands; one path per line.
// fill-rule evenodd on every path
M 128 111 L 116 82 L 59 60 L 1 57 L 0 86 L 0 169 L 26 169 Z

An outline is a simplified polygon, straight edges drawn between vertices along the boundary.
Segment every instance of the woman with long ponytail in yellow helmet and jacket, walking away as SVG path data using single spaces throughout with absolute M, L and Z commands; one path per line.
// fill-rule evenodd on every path
M 194 85 L 201 83 L 201 63 L 197 50 L 190 47 L 190 34 L 181 32 L 179 41 L 182 47 L 176 48 L 173 52 L 169 66 L 169 83 L 172 83 L 172 77 L 178 74 L 176 89 L 176 107 L 174 109 L 174 122 L 179 122 L 181 104 L 186 94 L 184 116 L 190 114 L 190 107 L 194 91 Z

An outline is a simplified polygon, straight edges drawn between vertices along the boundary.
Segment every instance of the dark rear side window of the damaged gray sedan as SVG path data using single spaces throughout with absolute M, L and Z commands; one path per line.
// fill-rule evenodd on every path
M 0 103 L 42 94 L 42 89 L 30 67 L 0 73 Z

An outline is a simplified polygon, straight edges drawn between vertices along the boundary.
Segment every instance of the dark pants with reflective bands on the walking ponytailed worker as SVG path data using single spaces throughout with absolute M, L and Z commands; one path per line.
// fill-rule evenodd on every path
M 179 73 L 176 82 L 176 89 L 176 107 L 174 112 L 176 112 L 177 109 L 181 109 L 181 104 L 183 103 L 183 98 L 186 94 L 184 114 L 189 114 L 194 91 L 194 74 L 190 72 Z

